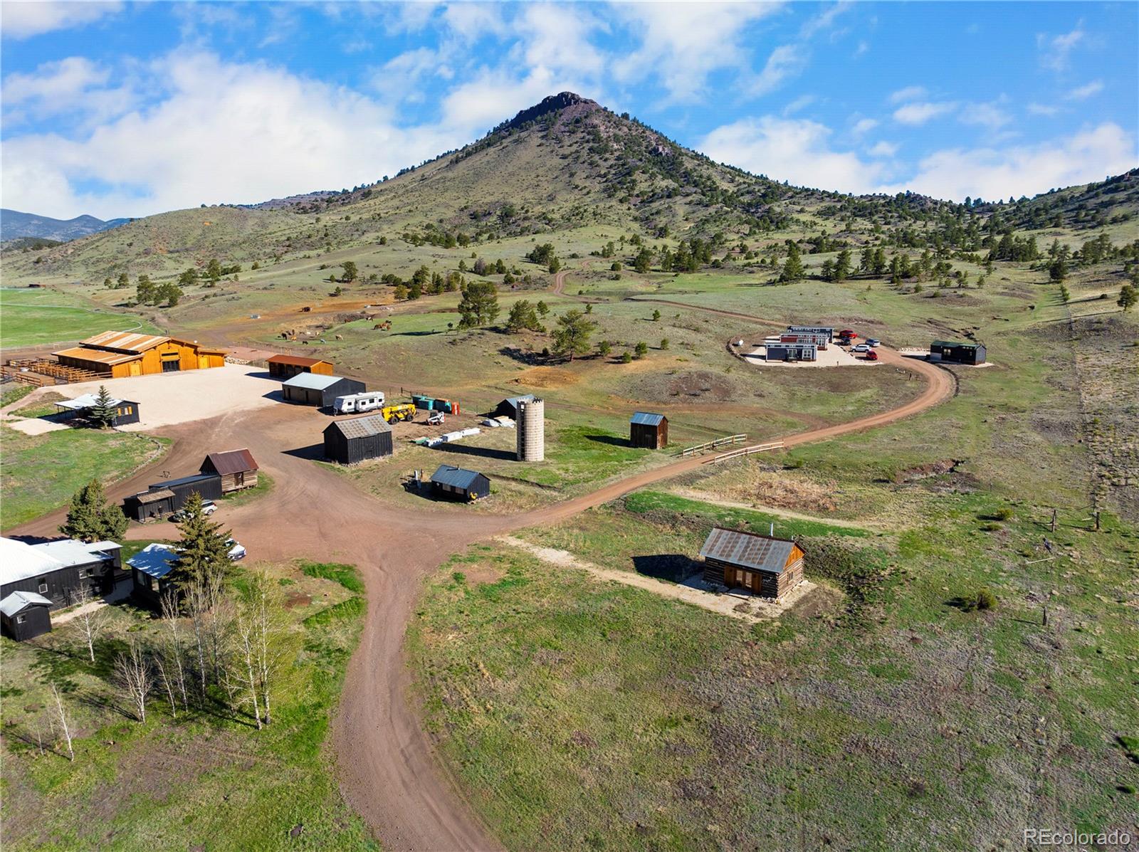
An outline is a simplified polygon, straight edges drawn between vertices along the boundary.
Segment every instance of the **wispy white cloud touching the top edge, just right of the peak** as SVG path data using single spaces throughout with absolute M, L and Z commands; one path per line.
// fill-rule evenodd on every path
M 617 80 L 636 82 L 657 75 L 671 100 L 695 101 L 713 71 L 747 64 L 739 43 L 743 30 L 772 15 L 779 5 L 646 2 L 614 8 L 642 35 L 641 47 L 614 64 Z

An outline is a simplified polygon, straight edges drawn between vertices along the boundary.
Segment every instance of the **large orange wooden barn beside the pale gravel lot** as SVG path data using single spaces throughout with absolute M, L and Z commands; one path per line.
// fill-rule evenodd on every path
M 200 370 L 226 363 L 226 350 L 203 346 L 197 341 L 133 331 L 104 331 L 52 354 L 64 367 L 112 378 Z

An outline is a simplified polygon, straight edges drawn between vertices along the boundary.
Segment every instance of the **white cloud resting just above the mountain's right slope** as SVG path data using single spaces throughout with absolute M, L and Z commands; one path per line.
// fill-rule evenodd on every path
M 699 149 L 713 159 L 809 187 L 867 192 L 883 175 L 877 163 L 835 151 L 830 130 L 803 118 L 744 118 L 708 133 Z

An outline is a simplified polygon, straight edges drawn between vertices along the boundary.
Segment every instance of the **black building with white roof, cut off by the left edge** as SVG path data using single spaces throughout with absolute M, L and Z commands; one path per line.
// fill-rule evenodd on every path
M 113 541 L 88 544 L 74 539 L 28 544 L 0 539 L 0 599 L 13 592 L 41 595 L 51 608 L 69 606 L 80 589 L 92 596 L 115 588 L 122 547 Z

